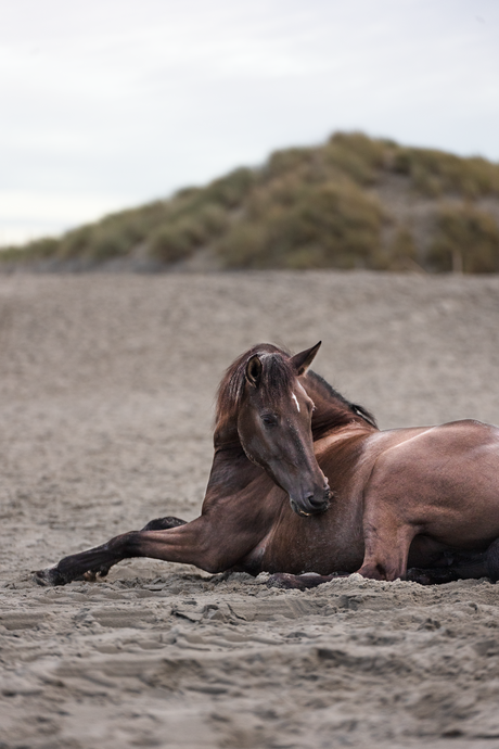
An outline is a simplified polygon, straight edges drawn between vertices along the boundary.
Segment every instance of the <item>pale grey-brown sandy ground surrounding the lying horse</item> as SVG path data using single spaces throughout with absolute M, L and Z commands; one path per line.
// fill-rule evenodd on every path
M 499 278 L 0 276 L 0 749 L 499 747 L 487 581 L 300 593 L 148 560 L 30 579 L 195 517 L 223 369 L 319 339 L 315 369 L 384 429 L 499 423 Z

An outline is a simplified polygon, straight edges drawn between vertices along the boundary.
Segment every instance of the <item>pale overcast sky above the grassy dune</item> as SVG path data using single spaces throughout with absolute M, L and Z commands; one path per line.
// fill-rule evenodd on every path
M 0 245 L 335 130 L 499 161 L 499 0 L 0 0 Z

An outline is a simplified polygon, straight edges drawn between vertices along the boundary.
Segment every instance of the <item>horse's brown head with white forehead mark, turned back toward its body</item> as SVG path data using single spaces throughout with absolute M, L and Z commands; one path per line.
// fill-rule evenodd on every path
M 267 471 L 289 494 L 293 510 L 305 517 L 327 510 L 331 496 L 314 453 L 314 403 L 300 382 L 319 346 L 292 357 L 281 353 L 251 356 L 238 415 L 238 433 L 247 457 Z

